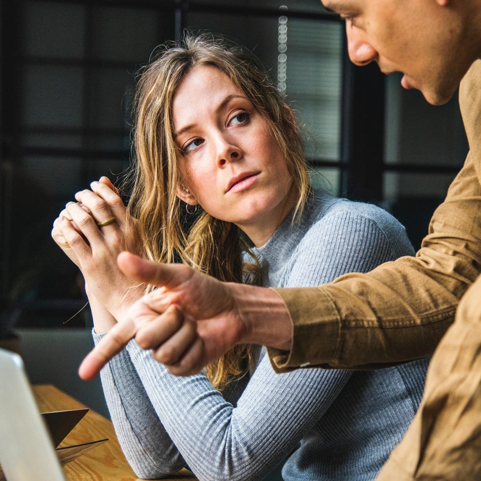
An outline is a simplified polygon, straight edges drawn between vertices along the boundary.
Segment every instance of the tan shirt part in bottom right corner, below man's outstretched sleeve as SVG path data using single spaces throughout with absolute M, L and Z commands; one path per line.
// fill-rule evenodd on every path
M 480 480 L 481 276 L 429 364 L 423 401 L 377 481 Z

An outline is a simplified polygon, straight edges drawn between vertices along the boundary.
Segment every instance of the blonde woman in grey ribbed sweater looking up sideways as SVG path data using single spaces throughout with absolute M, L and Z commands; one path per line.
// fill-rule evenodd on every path
M 156 261 L 278 287 L 414 253 L 389 214 L 309 187 L 293 113 L 241 49 L 206 36 L 166 48 L 139 80 L 135 112 L 129 214 L 101 179 L 54 223 L 53 238 L 85 276 L 95 342 L 144 288 L 115 265 L 132 244 Z M 200 480 L 260 480 L 288 456 L 286 480 L 359 481 L 374 480 L 401 440 L 426 368 L 279 375 L 263 348 L 242 346 L 180 378 L 132 341 L 102 383 L 139 477 L 187 466 Z

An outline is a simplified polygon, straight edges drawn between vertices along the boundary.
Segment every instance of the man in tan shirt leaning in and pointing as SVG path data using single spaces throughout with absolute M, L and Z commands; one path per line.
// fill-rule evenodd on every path
M 402 86 L 420 89 L 435 105 L 447 102 L 462 80 L 470 152 L 416 258 L 319 288 L 266 290 L 122 254 L 124 272 L 165 289 L 134 304 L 80 374 L 94 375 L 134 336 L 183 375 L 241 342 L 270 346 L 279 371 L 387 366 L 429 356 L 439 343 L 423 402 L 379 480 L 480 480 L 481 3 L 324 4 L 346 19 L 349 56 L 357 65 L 376 61 L 385 73 L 403 72 Z

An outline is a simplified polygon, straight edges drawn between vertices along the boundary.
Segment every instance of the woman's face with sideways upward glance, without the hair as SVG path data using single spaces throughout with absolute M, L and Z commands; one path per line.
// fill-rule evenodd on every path
M 224 73 L 199 66 L 174 95 L 173 122 L 179 197 L 262 245 L 297 202 L 267 121 Z

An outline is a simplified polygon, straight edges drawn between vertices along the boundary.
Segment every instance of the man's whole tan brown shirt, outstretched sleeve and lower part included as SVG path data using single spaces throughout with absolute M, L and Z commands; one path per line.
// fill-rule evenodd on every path
M 277 291 L 294 326 L 290 352 L 269 349 L 278 371 L 386 366 L 434 352 L 423 401 L 378 481 L 481 480 L 481 60 L 459 102 L 470 151 L 416 258 Z

